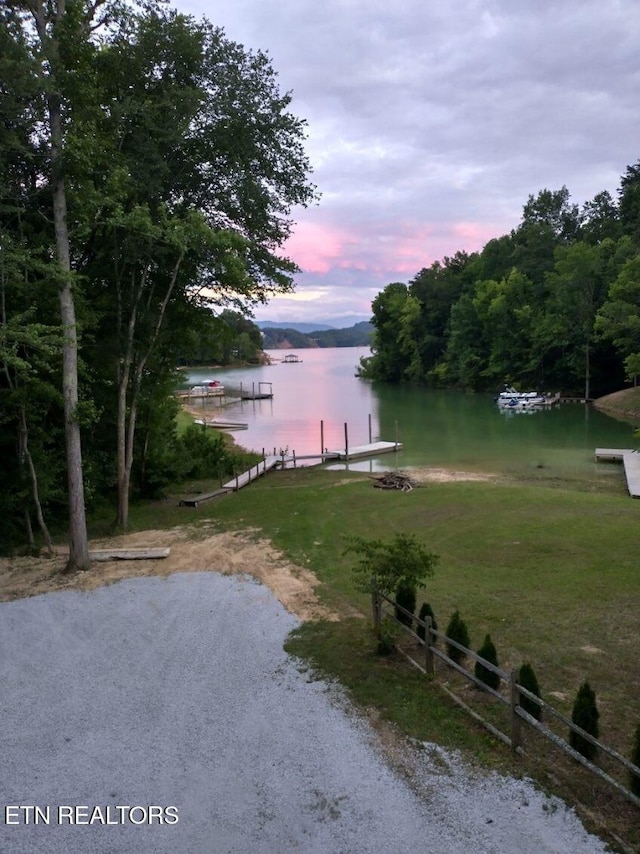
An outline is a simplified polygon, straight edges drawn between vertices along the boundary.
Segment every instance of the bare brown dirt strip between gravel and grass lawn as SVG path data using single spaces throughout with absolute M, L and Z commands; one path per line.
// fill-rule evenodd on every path
M 206 527 L 184 526 L 170 531 L 141 531 L 96 540 L 90 549 L 135 549 L 169 546 L 161 560 L 113 560 L 92 564 L 89 572 L 62 575 L 67 553 L 54 558 L 0 559 L 0 602 L 54 590 L 93 590 L 123 578 L 167 576 L 176 572 L 218 572 L 251 575 L 267 586 L 284 607 L 300 620 L 337 620 L 316 595 L 320 583 L 308 569 L 286 561 L 268 540 L 254 532 L 220 533 Z

